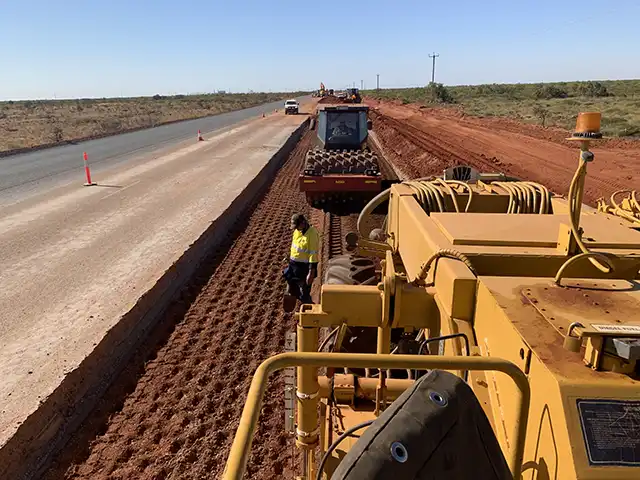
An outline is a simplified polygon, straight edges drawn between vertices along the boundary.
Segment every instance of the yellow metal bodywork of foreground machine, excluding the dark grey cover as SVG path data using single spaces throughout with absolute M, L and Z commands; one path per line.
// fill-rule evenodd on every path
M 296 445 L 305 480 L 323 473 L 318 448 L 325 452 L 338 431 L 376 418 L 408 388 L 411 369 L 429 368 L 467 380 L 513 478 L 637 478 L 640 463 L 607 456 L 621 452 L 619 432 L 598 420 L 618 411 L 640 418 L 640 232 L 582 205 L 599 117 L 597 127 L 572 137 L 580 155 L 566 199 L 477 172 L 469 174 L 473 183 L 445 174 L 374 198 L 349 241 L 357 255 L 381 260 L 379 282 L 325 284 L 320 303 L 302 305 L 297 352 L 259 367 L 224 478 L 240 478 L 246 465 L 269 373 L 290 366 L 297 366 Z M 369 240 L 363 220 L 385 201 L 385 241 Z M 376 345 L 372 353 L 318 353 L 323 328 L 333 329 L 336 352 L 354 328 L 375 329 Z M 440 346 L 424 356 L 394 355 L 399 330 Z M 344 373 L 322 376 L 319 367 Z M 355 368 L 376 368 L 377 378 L 356 379 Z M 409 378 L 393 377 L 403 369 Z M 610 445 L 594 438 L 594 428 Z M 637 450 L 640 438 L 628 440 Z M 352 443 L 334 452 L 324 473 Z

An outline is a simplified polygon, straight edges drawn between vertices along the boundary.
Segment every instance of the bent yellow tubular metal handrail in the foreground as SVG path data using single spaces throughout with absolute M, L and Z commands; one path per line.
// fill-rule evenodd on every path
M 419 370 L 485 370 L 502 372 L 514 381 L 520 390 L 520 402 L 517 409 L 515 448 L 509 456 L 509 468 L 514 479 L 520 478 L 524 441 L 529 418 L 531 391 L 526 375 L 508 360 L 492 357 L 445 357 L 418 355 L 381 355 L 358 353 L 281 353 L 268 358 L 260 364 L 253 375 L 247 401 L 242 410 L 240 424 L 231 445 L 229 458 L 225 466 L 224 480 L 240 480 L 244 474 L 251 450 L 253 434 L 258 424 L 262 398 L 267 387 L 269 375 L 288 367 L 350 367 L 380 369 L 419 369 Z

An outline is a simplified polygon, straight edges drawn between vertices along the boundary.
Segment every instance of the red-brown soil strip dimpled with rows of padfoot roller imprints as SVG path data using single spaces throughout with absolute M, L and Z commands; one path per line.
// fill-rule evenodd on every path
M 219 478 L 238 426 L 253 372 L 283 351 L 295 327 L 282 312 L 283 259 L 289 222 L 309 213 L 297 175 L 313 132 L 298 143 L 210 280 L 177 323 L 135 387 L 99 426 L 89 447 L 82 442 L 50 470 L 48 478 Z M 182 317 L 184 315 L 184 317 Z M 131 380 L 131 379 L 130 379 Z M 284 433 L 283 382 L 274 375 L 262 407 L 247 478 L 293 475 L 293 439 Z M 94 425 L 95 427 L 95 425 Z

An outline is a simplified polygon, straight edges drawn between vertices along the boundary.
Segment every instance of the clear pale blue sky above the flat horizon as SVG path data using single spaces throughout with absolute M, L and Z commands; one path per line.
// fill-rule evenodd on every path
M 0 99 L 418 86 L 432 51 L 449 85 L 640 78 L 639 18 L 638 0 L 0 0 Z

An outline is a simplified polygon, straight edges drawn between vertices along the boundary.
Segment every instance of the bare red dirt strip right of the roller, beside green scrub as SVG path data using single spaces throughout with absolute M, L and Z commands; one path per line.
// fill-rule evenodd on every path
M 504 118 L 469 117 L 455 110 L 367 99 L 374 131 L 389 159 L 408 178 L 442 175 L 452 165 L 503 172 L 566 195 L 577 167 L 578 145 L 568 132 Z M 594 142 L 585 202 L 595 205 L 621 189 L 640 190 L 640 142 Z

